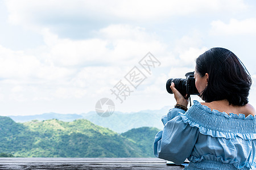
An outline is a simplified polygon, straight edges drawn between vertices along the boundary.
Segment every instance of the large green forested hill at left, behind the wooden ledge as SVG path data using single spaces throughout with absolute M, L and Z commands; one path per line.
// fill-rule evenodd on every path
M 84 119 L 34 120 L 20 124 L 9 117 L 0 117 L 0 142 L 0 153 L 21 157 L 152 156 L 132 137 Z

